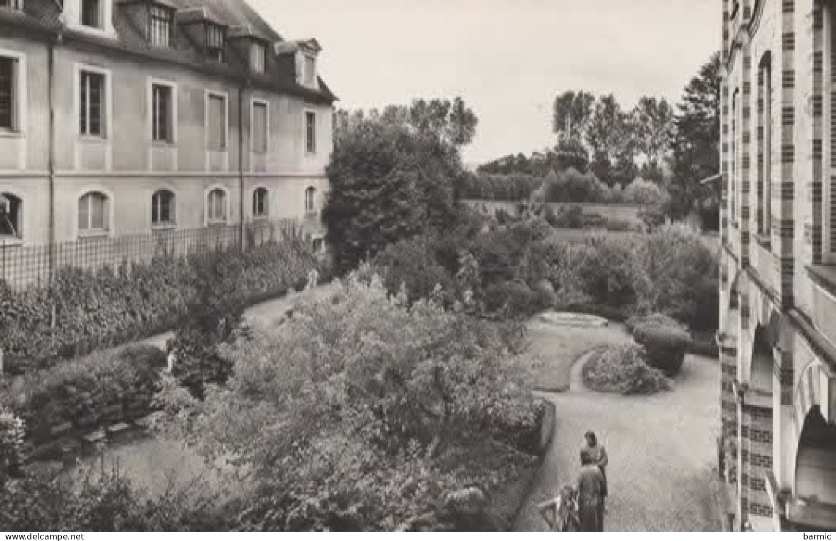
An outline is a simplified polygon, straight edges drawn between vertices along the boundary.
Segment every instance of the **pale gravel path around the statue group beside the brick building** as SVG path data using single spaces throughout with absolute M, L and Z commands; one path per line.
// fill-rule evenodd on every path
M 557 406 L 554 439 L 514 529 L 547 529 L 536 504 L 573 484 L 584 432 L 594 430 L 609 453 L 605 530 L 719 531 L 711 492 L 720 418 L 716 360 L 689 356 L 672 392 L 620 396 L 585 388 L 585 357 L 572 368 L 568 392 L 543 393 Z

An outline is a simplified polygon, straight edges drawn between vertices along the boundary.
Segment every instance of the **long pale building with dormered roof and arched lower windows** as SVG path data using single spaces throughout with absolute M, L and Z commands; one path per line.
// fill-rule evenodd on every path
M 243 0 L 0 0 L 0 252 L 317 217 L 319 53 Z

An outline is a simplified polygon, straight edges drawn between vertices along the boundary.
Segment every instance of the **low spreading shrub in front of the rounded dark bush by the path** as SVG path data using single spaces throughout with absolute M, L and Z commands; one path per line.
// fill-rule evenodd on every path
M 651 395 L 670 390 L 672 384 L 645 360 L 645 350 L 635 344 L 604 346 L 584 365 L 584 382 L 599 392 Z

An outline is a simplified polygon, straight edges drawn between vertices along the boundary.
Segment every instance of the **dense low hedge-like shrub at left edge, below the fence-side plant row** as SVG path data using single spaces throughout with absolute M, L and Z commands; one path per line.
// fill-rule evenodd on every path
M 25 421 L 28 439 L 35 443 L 51 440 L 52 429 L 65 423 L 89 429 L 102 421 L 145 416 L 158 390 L 160 361 L 166 358 L 152 350 L 153 346 L 141 346 L 101 351 L 33 371 L 0 400 Z

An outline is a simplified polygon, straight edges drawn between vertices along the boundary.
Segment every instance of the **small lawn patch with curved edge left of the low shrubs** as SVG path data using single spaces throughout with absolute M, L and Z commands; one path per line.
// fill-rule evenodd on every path
M 530 327 L 531 351 L 538 362 L 530 367 L 535 388 L 548 392 L 566 392 L 569 375 L 576 360 L 589 350 L 630 340 L 624 327 L 610 323 L 607 327 L 559 327 L 533 324 Z

